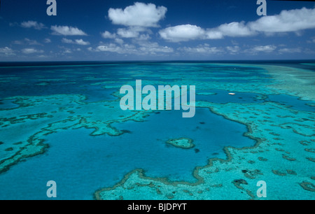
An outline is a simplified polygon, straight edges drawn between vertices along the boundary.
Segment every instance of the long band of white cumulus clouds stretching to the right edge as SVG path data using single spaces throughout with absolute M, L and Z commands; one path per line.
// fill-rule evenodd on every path
M 282 10 L 279 15 L 264 16 L 254 22 L 231 22 L 212 29 L 202 29 L 196 25 L 183 24 L 167 27 L 159 34 L 167 41 L 180 42 L 195 39 L 221 39 L 225 36 L 253 36 L 258 33 L 274 34 L 295 32 L 315 28 L 315 8 Z

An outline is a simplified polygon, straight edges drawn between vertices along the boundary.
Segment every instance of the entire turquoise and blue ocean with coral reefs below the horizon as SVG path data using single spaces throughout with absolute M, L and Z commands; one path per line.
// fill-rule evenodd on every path
M 314 62 L 0 63 L 0 199 L 315 199 Z M 120 88 L 195 85 L 196 112 Z M 173 103 L 174 104 L 174 103 Z M 171 144 L 188 139 L 191 148 Z M 241 181 L 240 181 L 241 180 Z

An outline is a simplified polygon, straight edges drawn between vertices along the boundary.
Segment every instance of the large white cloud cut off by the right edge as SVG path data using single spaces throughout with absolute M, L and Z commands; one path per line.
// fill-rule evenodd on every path
M 261 17 L 255 22 L 249 22 L 253 31 L 265 33 L 283 33 L 315 28 L 315 8 L 282 10 L 279 15 Z

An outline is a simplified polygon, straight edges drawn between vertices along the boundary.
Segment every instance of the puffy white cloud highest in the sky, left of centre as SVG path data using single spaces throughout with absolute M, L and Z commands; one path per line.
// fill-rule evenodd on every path
M 136 2 L 124 10 L 110 8 L 109 19 L 113 24 L 125 26 L 158 27 L 158 22 L 165 17 L 166 12 L 167 8 L 164 6 Z

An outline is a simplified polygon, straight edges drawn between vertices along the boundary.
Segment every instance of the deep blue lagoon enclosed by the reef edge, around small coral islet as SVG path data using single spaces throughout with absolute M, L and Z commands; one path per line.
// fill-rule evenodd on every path
M 200 124 L 205 118 L 207 122 Z M 198 109 L 189 122 L 179 113 L 162 112 L 147 117 L 146 122 L 125 122 L 115 127 L 128 129 L 128 133 L 90 136 L 89 130 L 76 129 L 51 134 L 46 138 L 50 148 L 44 155 L 3 173 L 1 197 L 45 199 L 45 182 L 55 180 L 58 199 L 92 199 L 95 190 L 115 185 L 134 169 L 144 169 L 155 178 L 194 182 L 195 166 L 207 165 L 210 157 L 224 158 L 224 146 L 255 143 L 242 136 L 246 131 L 243 124 L 223 120 L 206 108 Z M 169 138 L 179 137 L 194 138 L 195 148 L 183 150 L 166 144 Z M 16 182 L 16 178 L 23 179 Z M 21 190 L 20 194 L 13 189 Z

